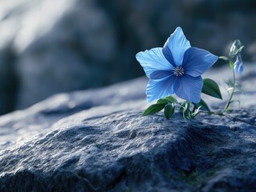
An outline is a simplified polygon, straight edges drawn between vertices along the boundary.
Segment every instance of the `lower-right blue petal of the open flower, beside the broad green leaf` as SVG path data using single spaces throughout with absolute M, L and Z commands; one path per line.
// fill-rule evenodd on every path
M 201 89 L 203 84 L 204 82 L 201 76 L 194 78 L 185 74 L 184 76 L 177 78 L 174 91 L 179 98 L 183 98 L 189 102 L 198 103 L 201 100 Z

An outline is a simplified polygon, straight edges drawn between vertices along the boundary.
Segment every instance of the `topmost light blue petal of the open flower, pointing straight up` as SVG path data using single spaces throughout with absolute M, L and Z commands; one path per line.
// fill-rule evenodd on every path
M 189 49 L 190 42 L 185 38 L 181 27 L 171 34 L 171 36 L 165 42 L 163 52 L 165 58 L 175 66 L 181 66 L 185 51 Z M 174 62 L 174 63 L 173 63 Z

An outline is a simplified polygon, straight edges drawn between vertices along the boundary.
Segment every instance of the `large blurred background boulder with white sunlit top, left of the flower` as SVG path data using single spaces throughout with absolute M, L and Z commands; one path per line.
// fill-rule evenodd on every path
M 4 82 L 18 78 L 14 93 L 3 95 L 14 98 L 11 110 L 52 94 L 122 79 L 122 74 L 116 75 L 120 70 L 115 64 L 116 30 L 96 1 L 63 0 L 52 5 L 50 0 L 18 0 L 2 1 L 0 7 L 0 62 L 6 68 L 13 66 L 11 73 L 17 75 L 2 77 L 7 76 Z M 4 87 L 0 85 L 0 90 Z

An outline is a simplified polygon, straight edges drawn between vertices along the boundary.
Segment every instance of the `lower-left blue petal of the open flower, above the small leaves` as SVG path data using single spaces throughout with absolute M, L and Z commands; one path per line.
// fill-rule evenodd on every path
M 170 75 L 162 79 L 150 79 L 147 86 L 147 101 L 152 102 L 159 98 L 165 98 L 174 94 L 173 88 L 177 77 Z

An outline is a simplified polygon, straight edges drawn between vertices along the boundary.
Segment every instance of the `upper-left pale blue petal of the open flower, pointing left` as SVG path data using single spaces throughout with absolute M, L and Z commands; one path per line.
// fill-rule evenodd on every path
M 155 70 L 172 70 L 173 66 L 166 60 L 162 48 L 140 51 L 136 54 L 136 59 L 144 68 L 145 74 L 150 77 Z

